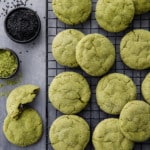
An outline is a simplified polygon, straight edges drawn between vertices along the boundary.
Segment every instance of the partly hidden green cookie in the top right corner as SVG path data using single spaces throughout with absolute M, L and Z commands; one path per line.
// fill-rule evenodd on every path
M 143 14 L 150 11 L 150 1 L 149 0 L 133 0 L 135 7 L 135 14 Z

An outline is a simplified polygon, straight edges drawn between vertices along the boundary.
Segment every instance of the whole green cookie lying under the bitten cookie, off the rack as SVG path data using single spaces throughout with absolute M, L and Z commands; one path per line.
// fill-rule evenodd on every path
M 31 108 L 24 109 L 18 120 L 8 115 L 3 125 L 7 140 L 21 147 L 36 143 L 42 136 L 42 130 L 42 120 Z

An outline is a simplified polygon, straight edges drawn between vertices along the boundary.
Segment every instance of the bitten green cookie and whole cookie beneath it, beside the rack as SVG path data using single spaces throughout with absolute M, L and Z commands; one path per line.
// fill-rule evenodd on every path
M 4 120 L 3 132 L 7 140 L 25 147 L 36 143 L 42 136 L 42 119 L 33 108 L 24 107 L 36 97 L 39 87 L 22 85 L 9 94 L 6 103 L 8 115 Z

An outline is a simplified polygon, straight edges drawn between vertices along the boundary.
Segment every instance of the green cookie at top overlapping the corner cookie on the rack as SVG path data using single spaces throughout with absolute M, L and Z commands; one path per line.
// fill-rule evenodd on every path
M 132 22 L 134 11 L 132 0 L 98 0 L 95 15 L 103 29 L 120 32 Z

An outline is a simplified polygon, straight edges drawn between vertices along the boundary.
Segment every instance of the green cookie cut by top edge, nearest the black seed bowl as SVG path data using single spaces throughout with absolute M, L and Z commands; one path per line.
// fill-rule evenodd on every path
M 84 22 L 92 11 L 91 0 L 53 0 L 54 14 L 62 22 L 76 25 Z

